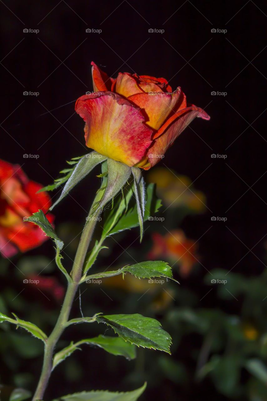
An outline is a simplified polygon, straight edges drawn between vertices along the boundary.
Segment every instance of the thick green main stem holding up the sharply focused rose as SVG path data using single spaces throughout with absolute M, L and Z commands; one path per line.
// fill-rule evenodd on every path
M 59 314 L 59 318 L 53 331 L 51 332 L 50 336 L 47 339 L 47 344 L 44 347 L 44 360 L 42 365 L 42 372 L 32 401 L 42 400 L 44 391 L 47 388 L 47 384 L 52 372 L 54 349 L 61 334 L 65 329 L 65 324 L 69 320 L 69 314 L 73 304 L 73 299 L 79 287 L 79 282 L 81 280 L 81 276 L 83 273 L 83 263 L 85 261 L 87 249 L 91 241 L 95 225 L 97 223 L 97 217 L 100 215 L 100 213 L 101 212 L 99 211 L 97 215 L 95 215 L 94 219 L 90 219 L 89 221 L 87 221 L 83 229 L 79 247 L 77 249 L 73 263 L 73 268 L 71 273 L 72 282 L 68 283 L 67 292 Z M 90 214 L 91 211 L 89 215 Z

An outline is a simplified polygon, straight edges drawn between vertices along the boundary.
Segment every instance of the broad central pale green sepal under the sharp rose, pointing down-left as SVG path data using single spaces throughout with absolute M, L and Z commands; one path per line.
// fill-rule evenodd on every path
M 113 159 L 107 159 L 107 186 L 100 201 L 93 206 L 93 213 L 97 213 L 113 199 L 117 193 L 126 184 L 131 175 L 131 168 L 124 163 L 116 162 Z M 105 178 L 105 177 L 103 177 Z

